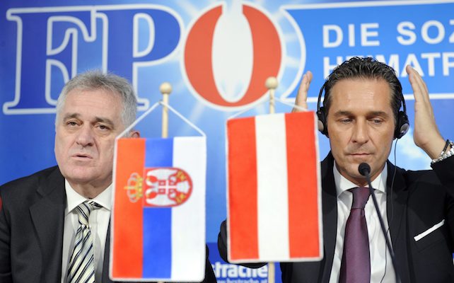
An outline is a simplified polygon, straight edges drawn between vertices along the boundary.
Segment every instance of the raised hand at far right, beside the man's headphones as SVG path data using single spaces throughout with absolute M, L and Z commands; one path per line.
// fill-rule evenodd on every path
M 415 69 L 407 65 L 406 71 L 414 95 L 414 144 L 426 151 L 431 159 L 437 158 L 445 146 L 445 140 L 435 122 L 429 91 Z

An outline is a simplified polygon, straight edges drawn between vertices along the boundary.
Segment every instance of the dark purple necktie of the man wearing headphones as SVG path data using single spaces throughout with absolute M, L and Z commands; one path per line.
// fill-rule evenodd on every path
M 368 283 L 371 282 L 371 256 L 364 207 L 370 191 L 367 187 L 354 187 L 350 191 L 353 204 L 345 226 L 339 283 Z

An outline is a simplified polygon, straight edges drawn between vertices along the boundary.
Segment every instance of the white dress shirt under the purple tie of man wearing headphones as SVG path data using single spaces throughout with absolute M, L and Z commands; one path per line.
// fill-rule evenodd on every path
M 345 224 L 350 215 L 351 204 L 353 202 L 353 194 L 348 190 L 353 187 L 358 187 L 351 183 L 347 178 L 344 178 L 336 166 L 333 168 L 334 183 L 336 184 L 337 192 L 337 232 L 336 232 L 336 247 L 334 249 L 334 259 L 332 261 L 330 283 L 339 282 L 339 272 L 342 261 L 342 253 L 344 250 L 344 233 Z M 386 179 L 388 178 L 388 169 L 385 168 L 372 181 L 372 187 L 375 189 L 378 208 L 380 209 L 385 229 L 388 231 L 388 218 L 386 216 Z M 371 282 L 395 282 L 394 268 L 392 267 L 391 255 L 386 247 L 385 236 L 380 228 L 377 212 L 373 206 L 372 197 L 369 197 L 366 207 L 366 214 L 369 250 L 371 254 Z M 385 276 L 383 278 L 383 275 Z M 383 281 L 382 281 L 383 278 Z

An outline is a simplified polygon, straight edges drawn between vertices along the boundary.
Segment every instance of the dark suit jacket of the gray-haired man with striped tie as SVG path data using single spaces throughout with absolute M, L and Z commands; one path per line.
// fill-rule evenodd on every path
M 1 283 L 61 282 L 65 207 L 64 178 L 57 167 L 0 187 Z M 103 283 L 110 283 L 109 232 L 105 245 Z M 204 282 L 216 282 L 208 248 Z

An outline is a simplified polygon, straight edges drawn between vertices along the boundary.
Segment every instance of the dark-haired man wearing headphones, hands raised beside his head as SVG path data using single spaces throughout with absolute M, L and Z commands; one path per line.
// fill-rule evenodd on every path
M 392 140 L 409 128 L 395 71 L 372 58 L 354 57 L 339 65 L 318 99 L 319 129 L 331 147 L 320 166 L 324 257 L 282 262 L 283 282 L 454 282 L 454 146 L 438 132 L 421 76 L 409 66 L 407 73 L 415 100 L 414 143 L 430 156 L 433 170 L 405 171 L 387 161 Z M 308 71 L 296 105 L 307 108 L 311 80 Z M 370 166 L 393 252 L 359 173 L 361 163 Z M 224 221 L 218 239 L 224 260 L 226 243 Z

